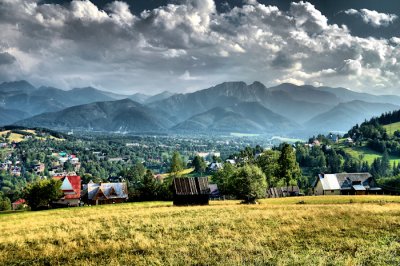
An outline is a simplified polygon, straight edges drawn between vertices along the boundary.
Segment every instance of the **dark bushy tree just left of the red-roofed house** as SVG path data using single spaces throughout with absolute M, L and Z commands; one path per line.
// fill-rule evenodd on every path
M 61 181 L 56 179 L 39 180 L 25 188 L 24 198 L 32 210 L 48 207 L 52 201 L 63 196 Z

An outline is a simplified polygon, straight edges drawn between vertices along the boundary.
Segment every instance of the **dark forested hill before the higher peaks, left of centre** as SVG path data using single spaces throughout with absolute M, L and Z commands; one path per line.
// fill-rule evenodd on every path
M 40 114 L 16 125 L 109 132 L 154 132 L 171 126 L 165 117 L 130 99 L 74 106 Z

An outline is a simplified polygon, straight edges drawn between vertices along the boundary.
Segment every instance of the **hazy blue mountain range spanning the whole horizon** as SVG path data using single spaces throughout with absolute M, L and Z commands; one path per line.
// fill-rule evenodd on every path
M 56 130 L 308 136 L 346 131 L 397 109 L 395 95 L 289 83 L 267 88 L 260 82 L 224 82 L 193 93 L 156 95 L 0 84 L 0 125 Z

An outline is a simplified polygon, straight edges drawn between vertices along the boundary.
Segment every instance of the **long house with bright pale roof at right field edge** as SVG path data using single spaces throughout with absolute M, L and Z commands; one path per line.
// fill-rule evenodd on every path
M 381 191 L 370 173 L 319 174 L 313 184 L 314 195 L 365 195 Z

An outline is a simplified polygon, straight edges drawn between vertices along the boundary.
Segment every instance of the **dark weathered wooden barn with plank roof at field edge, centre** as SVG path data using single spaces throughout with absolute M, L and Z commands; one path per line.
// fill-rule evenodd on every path
M 174 205 L 208 205 L 210 188 L 207 177 L 174 178 Z

